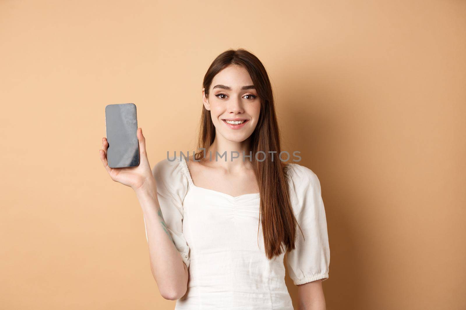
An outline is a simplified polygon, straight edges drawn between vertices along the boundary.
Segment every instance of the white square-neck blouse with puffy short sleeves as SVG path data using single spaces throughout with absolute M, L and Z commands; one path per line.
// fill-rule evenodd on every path
M 198 187 L 183 156 L 158 162 L 152 172 L 165 224 L 189 272 L 186 294 L 175 310 L 293 310 L 285 285 L 285 253 L 272 260 L 265 255 L 259 193 L 233 197 Z M 285 173 L 304 234 L 296 226 L 288 274 L 296 285 L 326 280 L 330 249 L 319 179 L 298 164 L 288 164 Z

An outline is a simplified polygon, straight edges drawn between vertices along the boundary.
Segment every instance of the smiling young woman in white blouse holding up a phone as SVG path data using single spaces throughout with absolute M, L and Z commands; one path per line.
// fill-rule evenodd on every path
M 325 309 L 330 251 L 320 182 L 278 158 L 264 66 L 244 49 L 227 50 L 203 86 L 194 156 L 167 156 L 151 169 L 141 128 L 137 167 L 109 168 L 105 138 L 99 151 L 110 177 L 136 192 L 161 295 L 177 300 L 176 310 L 292 310 L 287 253 L 299 309 Z

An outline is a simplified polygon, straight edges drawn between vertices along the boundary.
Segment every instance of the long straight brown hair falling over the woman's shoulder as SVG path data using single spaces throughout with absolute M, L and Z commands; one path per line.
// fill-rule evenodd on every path
M 213 60 L 204 76 L 202 83 L 206 98 L 209 95 L 213 77 L 230 65 L 242 66 L 247 70 L 260 98 L 260 116 L 251 135 L 249 150 L 252 151 L 252 164 L 260 190 L 259 224 L 262 218 L 265 253 L 268 259 L 272 259 L 274 256 L 281 255 L 282 246 L 287 252 L 295 249 L 296 224 L 298 224 L 288 194 L 286 163 L 276 158 L 281 152 L 281 147 L 272 86 L 265 67 L 254 54 L 242 48 L 229 49 Z M 202 160 L 203 154 L 207 152 L 214 139 L 215 127 L 210 112 L 203 106 L 198 150 L 204 148 L 205 151 L 195 153 L 196 160 Z M 267 159 L 256 160 L 255 154 L 258 151 L 265 152 Z M 269 160 L 268 151 L 276 151 L 274 161 Z M 260 155 L 259 158 L 262 157 L 263 155 Z

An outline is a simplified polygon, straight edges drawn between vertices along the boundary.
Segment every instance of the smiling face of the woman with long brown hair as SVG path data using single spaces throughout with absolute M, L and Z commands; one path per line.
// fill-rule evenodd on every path
M 215 75 L 210 87 L 208 99 L 203 89 L 203 102 L 210 111 L 215 135 L 232 142 L 249 138 L 259 119 L 260 98 L 247 70 L 241 66 L 227 66 Z M 243 123 L 228 124 L 235 120 Z

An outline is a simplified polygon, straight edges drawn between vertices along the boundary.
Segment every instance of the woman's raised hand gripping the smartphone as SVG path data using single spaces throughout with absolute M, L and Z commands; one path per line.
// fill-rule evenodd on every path
M 139 165 L 135 167 L 110 168 L 107 162 L 109 143 L 106 138 L 102 139 L 102 149 L 99 150 L 100 159 L 110 178 L 115 182 L 130 186 L 134 191 L 154 188 L 156 185 L 151 165 L 149 165 L 149 159 L 147 158 L 142 128 L 137 128 L 137 140 L 139 143 Z

